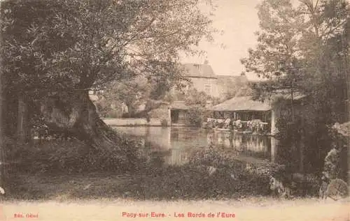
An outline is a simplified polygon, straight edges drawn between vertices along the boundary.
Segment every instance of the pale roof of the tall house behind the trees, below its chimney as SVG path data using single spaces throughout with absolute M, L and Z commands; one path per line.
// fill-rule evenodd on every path
M 187 77 L 217 78 L 209 64 L 184 63 Z

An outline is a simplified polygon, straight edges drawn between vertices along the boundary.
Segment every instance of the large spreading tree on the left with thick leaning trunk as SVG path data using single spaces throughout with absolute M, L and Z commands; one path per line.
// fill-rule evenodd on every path
M 200 2 L 6 1 L 1 19 L 7 90 L 25 97 L 23 102 L 34 100 L 34 110 L 51 128 L 92 146 L 116 146 L 87 91 L 137 75 L 166 86 L 168 79 L 182 82 L 179 53 L 201 53 L 193 46 L 212 40 Z

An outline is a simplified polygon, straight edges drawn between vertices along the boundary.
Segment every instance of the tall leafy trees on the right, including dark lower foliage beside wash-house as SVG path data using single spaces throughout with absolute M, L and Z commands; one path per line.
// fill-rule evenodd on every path
M 269 80 L 255 86 L 259 98 L 275 92 L 291 96 L 290 116 L 279 123 L 286 145 L 300 140 L 300 156 L 328 148 L 326 125 L 345 121 L 349 99 L 349 3 L 344 0 L 265 0 L 258 6 L 258 45 L 241 60 L 246 70 Z M 349 79 L 349 78 L 348 78 Z M 295 116 L 293 96 L 309 97 L 311 109 Z M 278 100 L 280 102 L 281 100 Z M 307 140 L 306 140 L 307 139 Z M 302 144 L 314 146 L 304 150 Z M 322 157 L 319 157 L 322 159 Z M 302 161 L 302 160 L 301 160 Z M 302 168 L 302 165 L 301 167 Z

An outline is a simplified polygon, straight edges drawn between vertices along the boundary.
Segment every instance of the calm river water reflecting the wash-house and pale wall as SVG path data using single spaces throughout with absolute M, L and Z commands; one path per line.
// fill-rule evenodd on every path
M 170 127 L 116 127 L 116 130 L 141 137 L 144 154 L 162 158 L 167 165 L 186 163 L 191 151 L 210 145 L 233 149 L 237 158 L 276 160 L 276 140 L 262 135 Z

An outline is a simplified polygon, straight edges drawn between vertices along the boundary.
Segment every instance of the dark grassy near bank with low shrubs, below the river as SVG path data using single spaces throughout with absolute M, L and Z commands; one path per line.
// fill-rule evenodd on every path
M 125 137 L 125 144 L 132 143 L 138 144 L 137 140 Z M 120 160 L 118 154 L 103 149 L 87 151 L 76 139 L 45 141 L 18 149 L 12 146 L 11 158 L 19 163 L 10 168 L 10 199 L 267 196 L 270 194 L 269 175 L 277 168 L 267 163 L 256 165 L 260 169 L 255 172 L 248 172 L 245 162 L 218 148 L 193 151 L 185 165 L 165 165 L 161 157 L 149 158 L 141 148 L 124 146 L 125 153 L 133 160 Z M 216 172 L 210 174 L 209 167 L 215 167 Z M 315 193 L 312 191 L 309 195 Z

